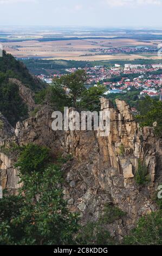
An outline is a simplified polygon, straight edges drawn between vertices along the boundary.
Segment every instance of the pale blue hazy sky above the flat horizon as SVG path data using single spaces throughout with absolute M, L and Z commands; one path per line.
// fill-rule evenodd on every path
M 0 0 L 0 10 L 0 26 L 162 28 L 162 0 Z

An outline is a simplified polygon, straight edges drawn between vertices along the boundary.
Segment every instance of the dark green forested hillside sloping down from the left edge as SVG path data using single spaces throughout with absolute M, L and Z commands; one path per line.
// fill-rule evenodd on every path
M 23 63 L 3 52 L 0 58 L 0 112 L 15 126 L 17 121 L 28 117 L 28 108 L 20 96 L 18 84 L 9 81 L 9 78 L 17 78 L 34 92 L 43 88 L 44 84 L 30 75 Z

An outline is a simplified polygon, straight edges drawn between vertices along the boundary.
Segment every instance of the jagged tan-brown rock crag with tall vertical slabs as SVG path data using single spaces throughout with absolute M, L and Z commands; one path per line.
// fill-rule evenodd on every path
M 17 123 L 14 139 L 20 145 L 47 145 L 54 157 L 61 152 L 73 154 L 73 161 L 63 167 L 64 197 L 69 209 L 79 211 L 86 223 L 97 220 L 106 203 L 119 206 L 127 215 L 123 221 L 108 224 L 108 229 L 120 240 L 140 216 L 156 210 L 151 196 L 162 179 L 162 142 L 151 128 L 140 129 L 124 101 L 116 100 L 116 106 L 101 99 L 101 109 L 109 111 L 111 117 L 111 132 L 106 137 L 97 136 L 96 131 L 53 131 L 52 111 L 43 107 L 34 118 Z M 1 166 L 9 175 L 9 160 L 6 163 L 4 158 Z M 134 180 L 139 159 L 146 162 L 151 176 L 149 186 L 144 188 Z

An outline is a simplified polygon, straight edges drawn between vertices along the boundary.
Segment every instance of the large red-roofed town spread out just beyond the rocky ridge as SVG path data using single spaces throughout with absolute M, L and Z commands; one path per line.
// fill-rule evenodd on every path
M 86 70 L 88 76 L 87 86 L 103 84 L 107 88 L 106 94 L 125 93 L 132 89 L 138 89 L 140 90 L 140 95 L 160 96 L 162 64 L 125 64 L 124 66 L 115 64 L 112 68 L 94 66 L 83 69 Z M 65 71 L 73 73 L 76 70 L 77 68 L 71 68 Z M 50 84 L 53 78 L 60 76 L 61 74 L 54 74 L 51 76 L 39 75 L 37 77 Z

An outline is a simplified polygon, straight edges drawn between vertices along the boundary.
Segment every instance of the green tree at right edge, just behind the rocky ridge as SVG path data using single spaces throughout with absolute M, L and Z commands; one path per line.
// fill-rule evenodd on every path
M 145 100 L 139 102 L 140 115 L 137 117 L 140 126 L 154 127 L 157 136 L 162 136 L 162 102 L 152 100 L 146 96 Z

